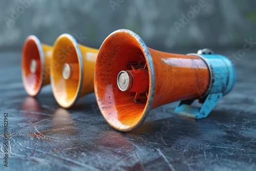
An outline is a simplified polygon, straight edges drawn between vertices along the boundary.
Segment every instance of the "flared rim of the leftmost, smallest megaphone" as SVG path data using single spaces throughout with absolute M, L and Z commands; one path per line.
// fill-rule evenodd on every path
M 40 69 L 41 72 L 40 72 L 39 78 L 38 77 L 36 78 L 39 80 L 38 84 L 37 85 L 33 84 L 32 88 L 30 87 L 31 83 L 29 83 L 27 80 L 26 73 L 25 73 L 26 69 L 24 68 L 25 62 L 28 62 L 28 61 L 26 61 L 27 57 L 25 55 L 25 53 L 26 53 L 25 50 L 30 41 L 33 41 L 33 43 L 36 45 L 36 48 L 39 53 L 40 66 L 41 66 L 41 69 Z M 39 94 L 39 92 L 42 88 L 42 82 L 44 80 L 44 73 L 45 73 L 45 54 L 44 54 L 44 50 L 42 49 L 41 41 L 35 35 L 29 35 L 24 42 L 23 54 L 22 54 L 22 80 L 23 80 L 24 88 L 25 88 L 26 92 L 28 93 L 28 95 L 35 97 L 36 95 Z M 29 86 L 29 84 L 30 84 L 30 86 Z

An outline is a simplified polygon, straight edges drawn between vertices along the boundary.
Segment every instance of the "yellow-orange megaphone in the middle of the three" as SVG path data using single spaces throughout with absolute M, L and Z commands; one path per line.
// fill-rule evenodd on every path
M 54 44 L 51 86 L 62 108 L 94 91 L 93 75 L 98 50 L 79 45 L 70 34 L 60 35 Z

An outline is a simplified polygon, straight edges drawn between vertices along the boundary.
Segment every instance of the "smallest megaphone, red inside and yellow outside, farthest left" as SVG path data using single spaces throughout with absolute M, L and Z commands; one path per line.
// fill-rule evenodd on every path
M 22 79 L 26 92 L 36 96 L 41 88 L 50 83 L 50 60 L 52 47 L 41 44 L 30 35 L 27 37 L 22 53 Z

